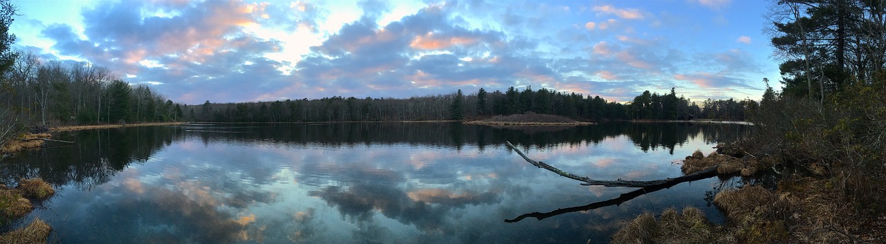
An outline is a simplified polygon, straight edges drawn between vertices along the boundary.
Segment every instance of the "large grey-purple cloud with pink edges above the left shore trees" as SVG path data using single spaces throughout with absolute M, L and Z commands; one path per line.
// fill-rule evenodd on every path
M 172 8 L 177 14 L 152 15 Z M 86 39 L 66 24 L 53 24 L 42 33 L 56 42 L 53 49 L 61 55 L 135 76 L 131 81 L 161 84 L 154 89 L 176 102 L 253 100 L 261 94 L 257 87 L 275 88 L 287 80 L 279 71 L 286 64 L 262 57 L 279 51 L 281 43 L 244 33 L 261 25 L 267 8 L 219 1 L 123 1 L 82 11 Z

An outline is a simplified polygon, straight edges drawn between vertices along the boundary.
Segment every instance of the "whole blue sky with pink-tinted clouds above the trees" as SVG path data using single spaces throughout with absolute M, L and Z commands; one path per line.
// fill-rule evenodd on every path
M 780 77 L 762 0 L 12 4 L 13 49 L 105 66 L 187 104 L 530 86 L 759 100 L 763 78 Z

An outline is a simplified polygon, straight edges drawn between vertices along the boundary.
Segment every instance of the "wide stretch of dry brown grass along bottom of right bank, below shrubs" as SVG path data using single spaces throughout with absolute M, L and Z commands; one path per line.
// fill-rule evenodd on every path
M 750 186 L 720 192 L 714 205 L 727 225 L 710 225 L 694 208 L 633 219 L 612 243 L 880 243 L 886 213 L 859 213 L 839 197 L 834 179 L 791 176 L 772 192 Z

